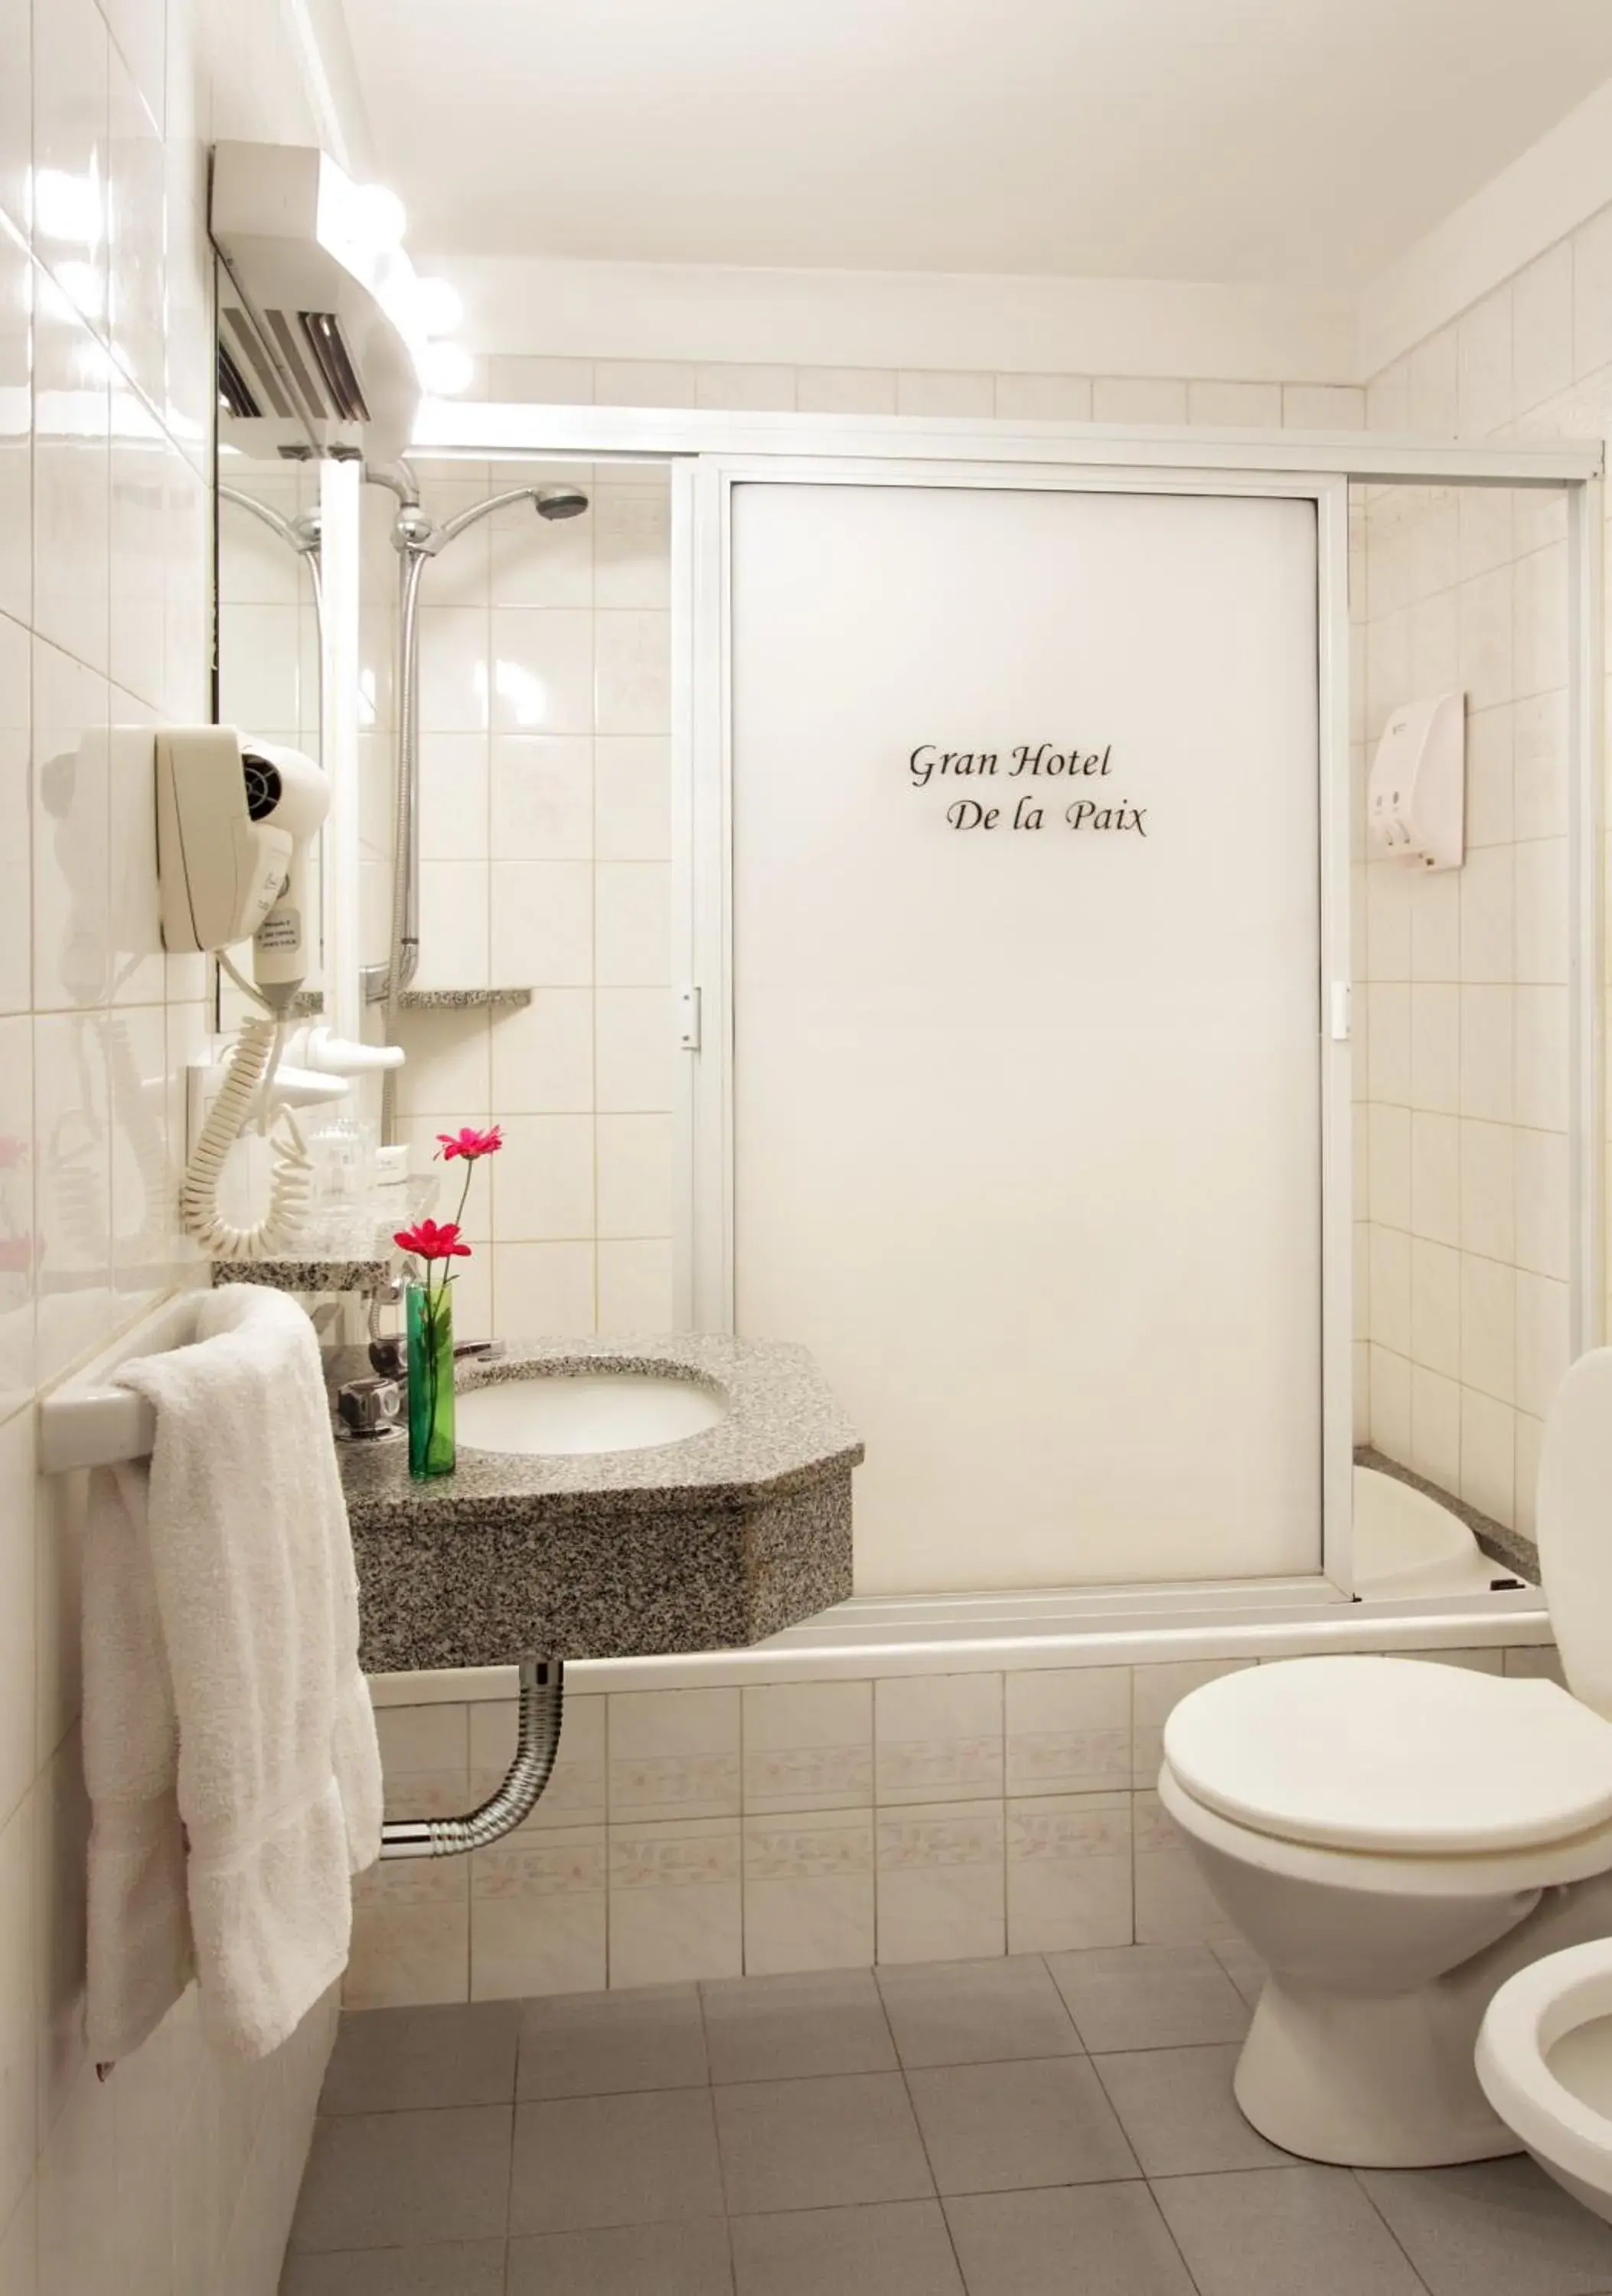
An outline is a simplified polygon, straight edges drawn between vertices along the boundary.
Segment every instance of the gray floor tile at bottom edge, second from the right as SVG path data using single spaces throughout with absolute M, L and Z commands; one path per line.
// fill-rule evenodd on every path
M 1258 2167 L 1153 2186 L 1199 2296 L 1424 2296 L 1346 2167 Z

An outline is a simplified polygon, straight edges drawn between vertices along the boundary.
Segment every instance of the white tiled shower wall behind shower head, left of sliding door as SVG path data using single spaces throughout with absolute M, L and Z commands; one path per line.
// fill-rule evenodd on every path
M 445 517 L 542 475 L 423 464 L 420 487 Z M 436 1132 L 503 1125 L 459 1320 L 519 1336 L 673 1320 L 668 484 L 576 475 L 586 517 L 519 503 L 468 528 L 420 613 L 416 985 L 533 1003 L 404 1019 L 400 1114 L 418 1162 Z

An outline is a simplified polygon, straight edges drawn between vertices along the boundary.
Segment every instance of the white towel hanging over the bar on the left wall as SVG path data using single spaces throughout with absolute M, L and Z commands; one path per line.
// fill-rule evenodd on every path
M 195 1972 L 214 2043 L 259 2057 L 347 1965 L 381 1846 L 319 1343 L 234 1283 L 117 1382 L 156 1442 L 94 1476 L 85 1548 L 90 2048 L 126 2057 Z

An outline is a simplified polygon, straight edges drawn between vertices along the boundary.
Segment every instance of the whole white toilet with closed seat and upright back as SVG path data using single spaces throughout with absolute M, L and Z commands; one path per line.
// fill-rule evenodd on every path
M 1561 1382 L 1536 1527 L 1568 1690 L 1295 1658 L 1164 1724 L 1160 1800 L 1270 1972 L 1233 2085 L 1286 2151 L 1433 2167 L 1532 2144 L 1474 2048 L 1506 1979 L 1612 1933 L 1612 1348 Z

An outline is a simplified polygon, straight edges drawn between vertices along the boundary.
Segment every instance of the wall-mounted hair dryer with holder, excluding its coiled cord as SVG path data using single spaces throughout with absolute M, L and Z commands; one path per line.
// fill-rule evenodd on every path
M 331 788 L 296 748 L 232 726 L 156 735 L 163 944 L 223 953 L 253 941 L 262 1001 L 287 1013 L 308 974 L 308 847 Z

